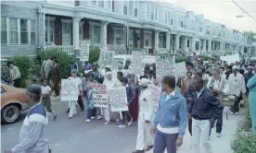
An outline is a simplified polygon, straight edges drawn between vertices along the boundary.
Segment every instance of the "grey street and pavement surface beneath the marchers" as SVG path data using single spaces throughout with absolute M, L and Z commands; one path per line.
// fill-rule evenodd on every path
M 105 125 L 103 121 L 93 121 L 85 123 L 85 112 L 79 112 L 72 119 L 67 118 L 65 111 L 68 108 L 68 102 L 55 101 L 53 108 L 58 112 L 58 120 L 52 121 L 49 114 L 49 124 L 46 127 L 46 136 L 49 138 L 53 153 L 131 153 L 135 147 L 135 138 L 137 133 L 136 124 L 126 126 L 125 129 L 117 129 L 116 123 Z M 14 147 L 19 143 L 19 129 L 25 117 L 22 117 L 16 124 L 1 125 L 2 141 L 1 151 L 6 148 Z M 232 153 L 230 140 L 234 135 L 237 122 L 243 119 L 243 113 L 239 116 L 229 115 L 227 121 L 224 117 L 223 136 L 217 138 L 215 129 L 212 129 L 211 142 L 213 153 Z M 189 153 L 190 135 L 187 132 L 184 138 L 184 145 L 178 149 L 178 153 Z M 153 152 L 153 151 L 149 151 Z

